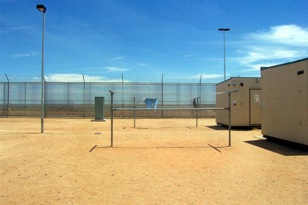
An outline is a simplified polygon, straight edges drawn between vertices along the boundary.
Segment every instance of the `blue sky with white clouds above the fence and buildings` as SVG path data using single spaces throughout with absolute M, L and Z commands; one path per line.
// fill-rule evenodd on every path
M 260 76 L 308 57 L 307 1 L 0 0 L 0 74 Z

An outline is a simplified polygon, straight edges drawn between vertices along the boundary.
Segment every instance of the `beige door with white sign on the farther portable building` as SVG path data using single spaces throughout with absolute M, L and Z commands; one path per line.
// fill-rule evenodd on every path
M 261 90 L 249 90 L 250 93 L 250 125 L 261 125 L 262 101 Z

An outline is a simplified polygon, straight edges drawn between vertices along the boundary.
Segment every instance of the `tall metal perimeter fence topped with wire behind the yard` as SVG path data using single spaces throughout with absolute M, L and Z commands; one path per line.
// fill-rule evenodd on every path
M 215 85 L 220 78 L 197 77 L 101 77 L 101 76 L 45 76 L 45 117 L 94 117 L 94 97 L 105 97 L 105 117 L 110 117 L 110 94 L 115 92 L 113 108 L 146 108 L 143 98 L 157 98 L 158 108 L 193 107 L 215 108 Z M 0 117 L 41 116 L 40 77 L 0 75 Z M 215 111 L 202 110 L 199 117 L 215 117 Z M 172 118 L 195 117 L 195 111 L 139 111 L 136 117 Z M 131 118 L 132 111 L 117 112 L 114 117 Z

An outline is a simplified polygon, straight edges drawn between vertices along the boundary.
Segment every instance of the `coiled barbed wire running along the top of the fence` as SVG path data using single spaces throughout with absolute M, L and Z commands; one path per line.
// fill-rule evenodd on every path
M 228 79 L 228 78 L 227 78 Z M 45 82 L 54 83 L 211 83 L 223 81 L 220 75 L 137 75 L 137 76 L 93 76 L 85 74 L 51 74 L 44 76 Z M 0 74 L 0 82 L 40 82 L 41 76 Z

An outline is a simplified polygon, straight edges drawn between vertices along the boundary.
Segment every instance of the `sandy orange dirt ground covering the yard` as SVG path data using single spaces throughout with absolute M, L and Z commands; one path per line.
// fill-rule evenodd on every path
M 308 152 L 215 119 L 0 118 L 0 204 L 306 204 Z M 95 134 L 100 133 L 100 134 Z

